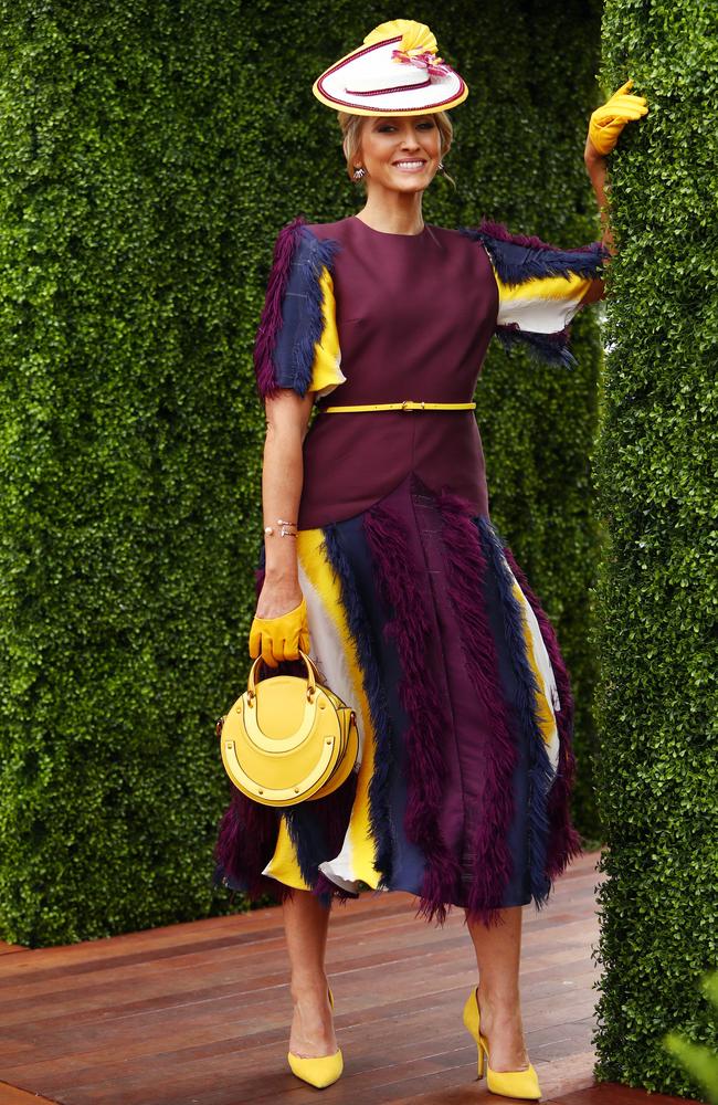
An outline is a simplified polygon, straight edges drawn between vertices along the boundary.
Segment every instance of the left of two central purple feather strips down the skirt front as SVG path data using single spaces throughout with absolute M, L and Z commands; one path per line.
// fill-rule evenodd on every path
M 451 722 L 426 667 L 434 628 L 400 519 L 372 506 L 365 514 L 363 529 L 379 593 L 392 611 L 384 632 L 395 641 L 403 670 L 399 696 L 409 718 L 404 828 L 426 859 L 416 916 L 435 918 L 441 925 L 450 904 L 456 901 L 461 867 L 446 848 L 439 824 L 445 779 L 442 745 Z

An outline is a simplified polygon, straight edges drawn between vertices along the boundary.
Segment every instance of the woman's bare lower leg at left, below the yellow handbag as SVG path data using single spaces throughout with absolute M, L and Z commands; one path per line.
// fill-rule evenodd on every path
M 300 890 L 283 909 L 294 1002 L 289 1051 L 303 1059 L 334 1055 L 337 1038 L 324 966 L 331 909 L 312 891 Z

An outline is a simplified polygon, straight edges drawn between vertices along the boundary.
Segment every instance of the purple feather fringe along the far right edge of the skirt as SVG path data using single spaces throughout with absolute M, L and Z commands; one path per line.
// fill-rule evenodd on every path
M 553 669 L 559 702 L 561 704 L 561 708 L 556 714 L 556 723 L 559 732 L 559 764 L 553 786 L 549 792 L 548 802 L 549 838 L 546 874 L 548 878 L 553 880 L 558 878 L 570 861 L 574 856 L 581 855 L 583 851 L 581 838 L 571 823 L 571 791 L 576 778 L 573 696 L 556 631 L 548 614 L 542 610 L 538 598 L 527 582 L 526 576 L 517 565 L 514 554 L 507 546 L 504 548 L 504 555 L 536 614 L 551 667 Z

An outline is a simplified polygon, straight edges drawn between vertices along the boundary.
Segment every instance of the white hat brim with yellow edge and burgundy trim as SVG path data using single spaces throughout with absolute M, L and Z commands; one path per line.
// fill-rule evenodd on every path
M 425 85 L 415 88 L 411 86 L 380 94 L 348 93 L 347 81 L 350 81 L 352 62 L 362 59 L 373 50 L 386 48 L 391 42 L 401 42 L 401 35 L 372 42 L 369 46 L 360 46 L 345 54 L 338 62 L 330 65 L 317 77 L 312 92 L 327 107 L 348 115 L 431 115 L 434 112 L 447 112 L 463 103 L 468 95 L 468 88 L 460 74 L 451 69 L 445 76 L 434 76 Z

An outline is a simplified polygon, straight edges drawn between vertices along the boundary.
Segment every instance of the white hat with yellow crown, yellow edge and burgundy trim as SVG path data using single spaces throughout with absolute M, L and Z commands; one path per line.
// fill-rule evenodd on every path
M 349 115 L 427 115 L 466 99 L 458 73 L 436 54 L 425 23 L 392 19 L 317 77 L 312 91 Z

